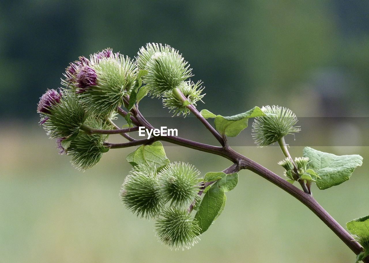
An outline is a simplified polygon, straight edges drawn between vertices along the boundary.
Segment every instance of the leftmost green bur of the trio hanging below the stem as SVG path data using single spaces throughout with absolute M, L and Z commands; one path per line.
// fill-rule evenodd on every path
M 155 166 L 135 166 L 124 180 L 120 197 L 138 217 L 155 217 L 162 207 Z

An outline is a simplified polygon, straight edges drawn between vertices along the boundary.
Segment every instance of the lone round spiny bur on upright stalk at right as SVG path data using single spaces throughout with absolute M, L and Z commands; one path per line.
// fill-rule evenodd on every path
M 252 123 L 252 137 L 259 147 L 265 147 L 275 143 L 287 134 L 299 132 L 296 115 L 284 107 L 279 106 L 263 106 L 262 111 L 265 116 L 257 117 Z

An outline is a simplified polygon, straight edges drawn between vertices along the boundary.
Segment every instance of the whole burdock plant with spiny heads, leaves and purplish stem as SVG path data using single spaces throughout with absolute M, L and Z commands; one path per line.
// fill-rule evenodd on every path
M 225 193 L 237 186 L 238 172 L 248 169 L 297 198 L 345 242 L 357 255 L 357 261 L 368 263 L 369 216 L 347 223 L 351 236 L 311 194 L 314 183 L 324 190 L 348 180 L 362 165 L 362 157 L 337 156 L 305 147 L 302 155 L 293 159 L 285 136 L 296 134 L 300 127 L 291 110 L 256 106 L 226 117 L 206 109 L 199 112 L 196 103 L 202 101 L 204 88 L 201 81 L 191 81 L 191 76 L 190 65 L 176 49 L 157 43 L 139 49 L 135 59 L 112 49 L 80 56 L 66 68 L 63 87 L 42 95 L 37 107 L 40 125 L 56 139 L 59 153 L 71 155 L 72 164 L 83 171 L 97 164 L 110 149 L 138 146 L 126 158 L 133 168 L 124 180 L 120 197 L 133 214 L 155 221 L 156 235 L 170 248 L 190 248 L 197 243 L 224 210 Z M 171 134 L 152 133 L 149 139 L 128 135 L 140 127 L 155 129 L 138 108 L 146 95 L 161 97 L 163 106 L 175 115 L 192 113 L 220 145 Z M 125 127 L 114 123 L 116 115 L 125 119 Z M 278 164 L 285 169 L 286 180 L 228 144 L 228 138 L 238 136 L 250 118 L 255 118 L 252 136 L 259 147 L 278 143 L 281 148 L 285 159 Z M 207 119 L 214 119 L 214 126 Z M 111 134 L 120 134 L 127 141 L 110 143 L 107 140 Z M 193 165 L 170 163 L 160 141 L 219 155 L 232 165 L 200 176 Z

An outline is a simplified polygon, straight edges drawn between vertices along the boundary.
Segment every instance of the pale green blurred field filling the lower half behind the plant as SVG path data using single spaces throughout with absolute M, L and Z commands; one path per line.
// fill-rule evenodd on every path
M 201 241 L 171 251 L 158 242 L 152 221 L 135 218 L 120 203 L 130 170 L 125 155 L 133 148 L 111 150 L 83 173 L 57 154 L 41 127 L 29 126 L 20 131 L 13 124 L 0 133 L 1 262 L 354 262 L 351 250 L 311 211 L 249 171 L 239 173 L 223 214 Z M 291 154 L 302 148 L 292 147 Z M 171 161 L 189 161 L 202 174 L 230 165 L 177 146 L 165 149 Z M 235 149 L 282 173 L 279 148 Z M 340 186 L 314 187 L 314 197 L 341 225 L 368 214 L 369 147 L 318 149 L 361 154 L 364 165 Z

